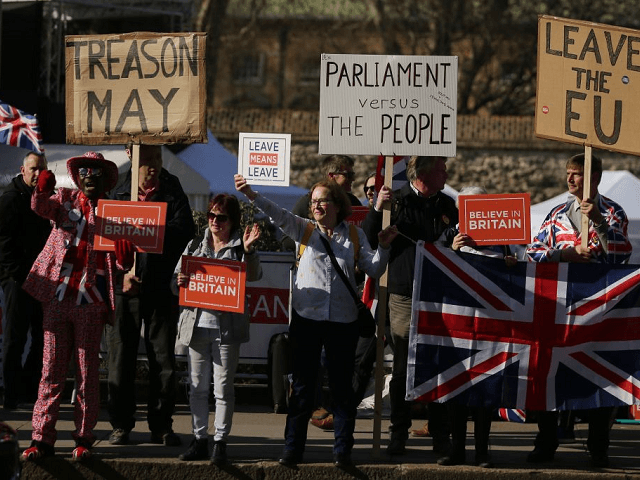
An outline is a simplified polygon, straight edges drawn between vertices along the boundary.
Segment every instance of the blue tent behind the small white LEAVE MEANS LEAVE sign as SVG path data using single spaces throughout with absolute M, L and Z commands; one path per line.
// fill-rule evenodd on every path
M 207 133 L 207 138 L 208 143 L 189 145 L 178 153 L 178 157 L 209 181 L 209 188 L 213 194 L 237 194 L 233 175 L 238 172 L 238 158 L 224 148 L 211 131 Z M 308 191 L 294 185 L 288 187 L 256 185 L 253 188 L 288 210 L 291 210 L 298 199 Z M 241 197 L 242 195 L 238 195 L 238 198 Z

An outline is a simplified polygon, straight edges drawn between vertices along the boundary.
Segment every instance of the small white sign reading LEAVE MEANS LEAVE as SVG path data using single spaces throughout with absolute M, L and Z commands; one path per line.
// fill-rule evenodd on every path
M 238 172 L 251 185 L 289 186 L 291 134 L 240 133 Z

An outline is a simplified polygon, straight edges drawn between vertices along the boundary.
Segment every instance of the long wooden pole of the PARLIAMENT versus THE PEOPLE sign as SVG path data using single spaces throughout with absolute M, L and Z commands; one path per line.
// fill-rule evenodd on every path
M 384 185 L 389 189 L 393 184 L 393 157 L 384 159 Z M 382 228 L 391 223 L 391 202 L 382 207 Z M 387 323 L 387 279 L 389 266 L 378 280 L 378 329 L 376 342 L 375 395 L 373 404 L 373 456 L 380 457 L 380 438 L 382 433 L 382 389 L 384 388 L 384 335 Z

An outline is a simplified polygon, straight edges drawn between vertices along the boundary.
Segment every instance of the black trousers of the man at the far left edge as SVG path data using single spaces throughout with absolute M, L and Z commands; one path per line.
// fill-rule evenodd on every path
M 5 405 L 21 400 L 35 401 L 42 374 L 42 306 L 9 278 L 4 291 L 3 376 Z M 24 365 L 22 357 L 31 329 L 31 348 Z

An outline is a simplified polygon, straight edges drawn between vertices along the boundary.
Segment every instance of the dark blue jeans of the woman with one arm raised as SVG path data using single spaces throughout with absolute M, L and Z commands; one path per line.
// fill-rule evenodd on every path
M 356 322 L 315 321 L 293 312 L 289 327 L 293 358 L 293 393 L 285 426 L 285 450 L 302 456 L 307 427 L 315 407 L 316 381 L 324 346 L 329 375 L 334 425 L 334 453 L 351 453 L 356 425 L 353 368 L 358 327 Z

